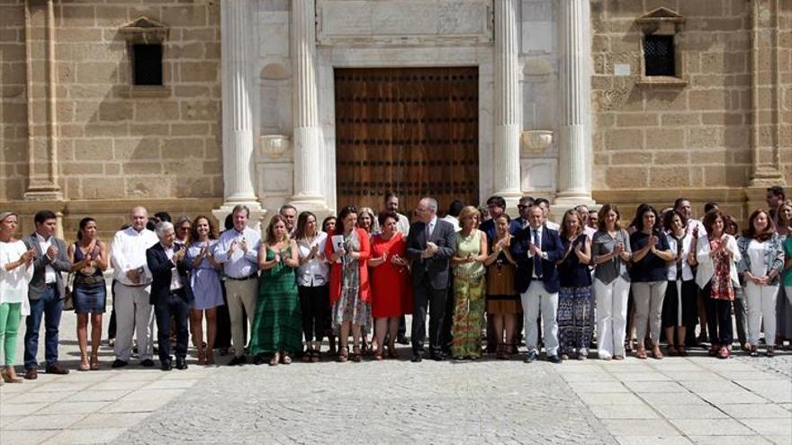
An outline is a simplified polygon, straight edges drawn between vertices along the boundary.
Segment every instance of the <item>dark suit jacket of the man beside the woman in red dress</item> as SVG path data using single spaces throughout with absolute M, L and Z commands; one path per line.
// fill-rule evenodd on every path
M 456 253 L 456 232 L 454 225 L 448 221 L 437 218 L 435 230 L 429 239 L 439 248 L 437 254 L 431 258 L 421 258 L 421 252 L 427 248 L 426 227 L 424 222 L 416 222 L 410 226 L 410 235 L 407 236 L 407 257 L 410 258 L 412 267 L 410 276 L 413 285 L 418 285 L 425 275 L 434 289 L 448 287 L 448 266 L 452 256 Z

